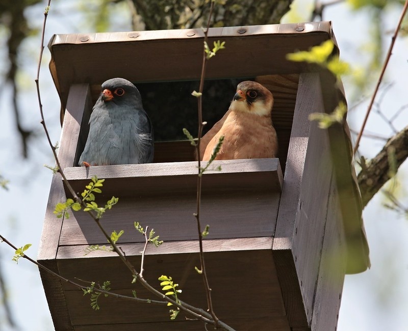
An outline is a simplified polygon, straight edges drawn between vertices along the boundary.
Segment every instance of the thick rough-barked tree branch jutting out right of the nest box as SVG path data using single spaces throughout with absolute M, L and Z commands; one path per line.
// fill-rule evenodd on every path
M 372 197 L 392 176 L 390 174 L 390 160 L 388 159 L 390 148 L 395 151 L 395 162 L 392 169 L 396 172 L 408 157 L 408 126 L 389 139 L 382 150 L 367 164 L 362 165 L 363 170 L 357 176 L 361 191 L 363 208 Z M 390 176 L 391 175 L 391 176 Z

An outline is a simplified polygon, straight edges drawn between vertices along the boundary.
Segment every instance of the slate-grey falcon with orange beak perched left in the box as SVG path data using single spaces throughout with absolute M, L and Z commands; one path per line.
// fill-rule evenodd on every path
M 152 162 L 153 127 L 138 89 L 129 80 L 112 78 L 102 84 L 102 91 L 93 106 L 79 165 Z

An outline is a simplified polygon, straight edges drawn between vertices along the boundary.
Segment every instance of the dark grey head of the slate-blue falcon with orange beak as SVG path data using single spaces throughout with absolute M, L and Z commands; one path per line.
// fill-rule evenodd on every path
M 115 104 L 141 102 L 141 97 L 136 86 L 124 78 L 112 78 L 102 84 L 102 102 Z

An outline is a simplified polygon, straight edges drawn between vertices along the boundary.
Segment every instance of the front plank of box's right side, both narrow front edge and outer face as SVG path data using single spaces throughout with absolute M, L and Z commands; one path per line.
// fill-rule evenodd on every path
M 288 312 L 290 325 L 296 327 L 309 326 L 312 319 L 331 178 L 327 133 L 309 121 L 309 114 L 319 110 L 324 111 L 319 76 L 301 74 L 273 244 L 274 251 L 292 252 L 292 258 L 287 258 L 294 263 L 282 262 L 278 277 L 284 279 L 287 274 L 293 274 L 295 265 L 298 284 L 285 283 L 283 292 L 291 293 L 294 291 L 291 286 L 300 286 L 304 307 Z M 293 306 L 291 298 L 283 296 L 289 299 L 285 302 L 288 310 Z

